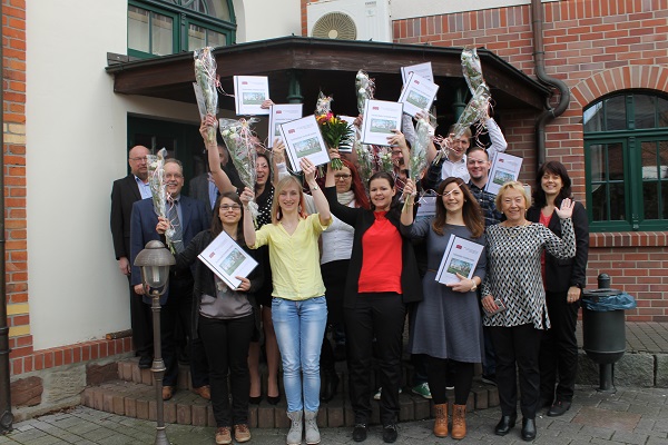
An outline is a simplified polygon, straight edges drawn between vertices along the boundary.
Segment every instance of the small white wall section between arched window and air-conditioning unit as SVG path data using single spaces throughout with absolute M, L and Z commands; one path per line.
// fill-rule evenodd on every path
M 233 0 L 237 43 L 302 36 L 299 0 Z

